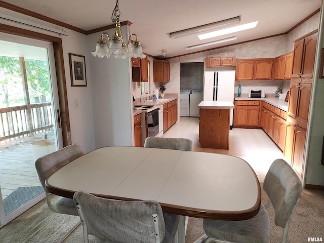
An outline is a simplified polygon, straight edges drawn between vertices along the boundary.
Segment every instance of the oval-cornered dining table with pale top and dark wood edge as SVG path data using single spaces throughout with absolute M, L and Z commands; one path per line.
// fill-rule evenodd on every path
M 211 152 L 108 146 L 76 158 L 46 182 L 56 195 L 78 190 L 119 200 L 156 200 L 180 215 L 178 238 L 185 242 L 186 218 L 245 220 L 261 204 L 259 180 L 242 158 Z

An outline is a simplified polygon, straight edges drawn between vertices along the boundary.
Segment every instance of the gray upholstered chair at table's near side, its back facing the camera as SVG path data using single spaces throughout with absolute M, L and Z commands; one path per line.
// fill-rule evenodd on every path
M 152 200 L 124 201 L 94 196 L 85 191 L 74 193 L 84 230 L 96 243 L 173 243 L 177 242 L 179 216 L 164 215 Z

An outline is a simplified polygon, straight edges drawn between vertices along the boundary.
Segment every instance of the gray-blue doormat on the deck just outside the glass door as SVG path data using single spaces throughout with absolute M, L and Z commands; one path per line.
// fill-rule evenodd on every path
M 43 192 L 44 189 L 42 186 L 18 187 L 4 199 L 5 215 L 14 212 Z

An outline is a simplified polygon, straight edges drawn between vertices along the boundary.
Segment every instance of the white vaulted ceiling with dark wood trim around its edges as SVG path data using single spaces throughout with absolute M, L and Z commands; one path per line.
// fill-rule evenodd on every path
M 115 0 L 4 0 L 3 2 L 83 30 L 112 24 L 111 14 L 116 3 Z M 130 32 L 138 35 L 143 51 L 157 58 L 162 58 L 161 49 L 167 50 L 168 58 L 286 33 L 320 7 L 321 0 L 119 0 L 120 21 L 132 22 Z M 176 39 L 169 37 L 170 32 L 235 16 L 241 17 L 240 24 L 254 21 L 259 23 L 253 29 L 203 41 L 195 34 Z M 236 36 L 236 41 L 186 50 L 187 46 L 233 35 Z

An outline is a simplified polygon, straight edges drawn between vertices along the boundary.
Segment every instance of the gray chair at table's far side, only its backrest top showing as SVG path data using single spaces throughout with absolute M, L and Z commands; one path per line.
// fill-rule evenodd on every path
M 191 151 L 192 150 L 192 141 L 187 138 L 147 137 L 145 139 L 144 147 Z

